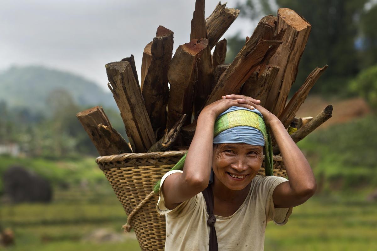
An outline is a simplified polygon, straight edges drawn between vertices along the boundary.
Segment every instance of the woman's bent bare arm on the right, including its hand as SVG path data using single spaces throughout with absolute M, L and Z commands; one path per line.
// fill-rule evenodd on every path
M 266 125 L 270 127 L 279 146 L 289 180 L 275 188 L 273 193 L 275 207 L 295 207 L 313 196 L 317 187 L 313 171 L 282 122 L 264 107 L 254 104 L 254 99 L 247 96 L 227 95 L 226 98 L 238 100 L 242 104 L 254 105 L 262 113 Z

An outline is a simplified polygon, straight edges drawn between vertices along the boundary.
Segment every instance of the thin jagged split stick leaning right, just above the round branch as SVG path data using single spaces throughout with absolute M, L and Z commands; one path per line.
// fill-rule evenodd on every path
M 326 70 L 326 68 L 327 65 L 323 66 L 322 68 L 316 67 L 316 69 L 314 69 L 306 78 L 300 89 L 297 90 L 296 93 L 294 93 L 287 106 L 285 106 L 283 112 L 279 116 L 279 119 L 280 121 L 282 121 L 285 128 L 287 128 L 291 124 L 294 116 L 296 115 L 296 112 L 299 110 L 300 106 L 307 98 L 310 89 L 314 86 L 314 84 Z

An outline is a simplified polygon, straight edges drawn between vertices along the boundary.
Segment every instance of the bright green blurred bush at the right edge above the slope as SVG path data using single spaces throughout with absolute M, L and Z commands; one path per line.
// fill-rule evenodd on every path
M 365 98 L 377 112 L 377 64 L 362 70 L 350 81 L 349 91 Z

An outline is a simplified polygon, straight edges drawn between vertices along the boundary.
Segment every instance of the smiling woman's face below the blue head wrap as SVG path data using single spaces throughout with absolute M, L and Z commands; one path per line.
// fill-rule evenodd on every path
M 262 161 L 261 145 L 224 143 L 213 147 L 213 173 L 231 190 L 244 189 L 257 175 Z

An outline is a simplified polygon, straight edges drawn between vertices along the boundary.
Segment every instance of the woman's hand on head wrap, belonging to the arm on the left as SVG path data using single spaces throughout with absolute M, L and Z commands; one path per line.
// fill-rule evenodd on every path
M 241 104 L 238 103 L 237 99 L 228 99 L 225 98 L 225 96 L 222 96 L 221 99 L 209 104 L 208 106 L 205 106 L 199 116 L 203 113 L 207 116 L 213 116 L 216 119 L 221 113 L 225 112 L 232 106 L 244 107 L 253 110 L 255 105 L 261 103 L 260 100 L 253 98 L 249 98 L 249 101 L 251 101 L 251 104 Z

